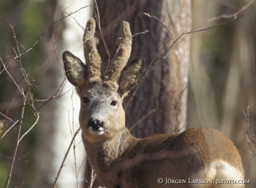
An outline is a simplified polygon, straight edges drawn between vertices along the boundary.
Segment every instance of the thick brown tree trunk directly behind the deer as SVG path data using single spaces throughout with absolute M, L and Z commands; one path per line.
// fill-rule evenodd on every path
M 145 34 L 136 35 L 132 41 L 132 52 L 129 61 L 137 56 L 145 58 L 145 69 L 150 66 L 160 48 L 164 47 L 156 60 L 161 60 L 168 48 L 174 42 L 171 33 L 163 24 L 154 18 L 145 16 L 149 13 L 161 19 L 174 33 L 177 39 L 184 31 L 191 30 L 191 2 L 181 1 L 153 1 L 153 0 L 122 0 L 122 1 L 98 1 L 100 12 L 101 30 L 109 49 L 110 57 L 114 56 L 117 48 L 115 42 L 120 37 L 120 25 L 122 21 L 130 23 L 131 33 L 136 34 L 150 31 Z M 175 31 L 175 32 L 174 32 Z M 99 32 L 96 35 L 100 43 L 98 50 L 105 67 L 108 65 L 109 57 L 106 53 Z M 168 42 L 169 41 L 169 42 Z M 174 121 L 174 108 L 178 104 L 181 92 L 188 85 L 188 63 L 189 63 L 190 36 L 180 38 L 171 49 L 167 58 L 152 68 L 146 75 L 145 82 L 139 88 L 132 100 L 124 106 L 126 108 L 126 126 L 130 128 L 135 122 L 156 109 L 149 117 L 139 123 L 132 131 L 136 137 L 145 137 L 155 133 L 172 133 L 172 122 Z M 159 62 L 159 61 L 155 61 Z M 132 92 L 131 92 L 132 93 Z M 181 128 L 186 122 L 187 92 L 182 95 L 179 107 L 176 109 L 174 130 Z M 185 129 L 185 126 L 182 130 Z M 99 184 L 95 185 L 98 187 Z

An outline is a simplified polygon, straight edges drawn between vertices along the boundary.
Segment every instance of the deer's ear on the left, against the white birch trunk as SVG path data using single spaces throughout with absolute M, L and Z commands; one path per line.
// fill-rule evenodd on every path
M 87 80 L 87 66 L 70 51 L 63 52 L 62 57 L 67 80 L 73 86 L 81 88 Z

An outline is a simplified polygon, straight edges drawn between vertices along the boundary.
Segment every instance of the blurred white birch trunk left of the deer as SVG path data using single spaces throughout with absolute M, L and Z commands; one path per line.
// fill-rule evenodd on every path
M 67 16 L 67 14 L 62 14 L 63 10 L 68 13 L 75 12 L 91 3 L 91 0 L 76 2 L 58 1 L 55 12 L 52 12 L 50 15 L 47 14 L 50 17 L 50 24 L 60 18 L 60 15 L 61 17 L 63 15 Z M 65 50 L 76 53 L 76 56 L 83 60 L 83 29 L 76 22 L 85 27 L 87 19 L 91 16 L 91 7 L 83 8 L 79 13 L 72 14 L 72 17 L 75 19 L 67 17 L 53 26 L 55 41 L 60 39 L 56 46 L 61 61 L 61 55 Z M 47 66 L 43 67 L 41 71 L 41 98 L 52 96 L 65 78 L 65 72 L 57 61 L 56 54 L 50 50 L 53 49 L 52 35 L 50 35 L 45 45 L 47 46 L 47 51 L 45 51 L 47 59 L 45 64 Z M 67 92 L 68 90 L 70 91 Z M 37 136 L 36 179 L 34 187 L 38 187 L 38 185 L 40 187 L 52 187 L 68 146 L 71 143 L 72 136 L 79 127 L 80 98 L 76 95 L 75 90 L 72 90 L 70 83 L 66 83 L 62 93 L 66 94 L 57 100 L 51 101 L 42 108 L 41 118 L 43 122 L 40 123 Z M 78 187 L 78 185 L 83 184 L 83 168 L 80 170 L 80 166 L 85 158 L 85 150 L 80 135 L 77 135 L 75 142 L 73 142 L 76 145 L 75 152 L 72 146 L 67 155 L 65 166 L 63 166 L 58 177 L 58 187 Z M 80 170 L 79 174 L 78 170 Z

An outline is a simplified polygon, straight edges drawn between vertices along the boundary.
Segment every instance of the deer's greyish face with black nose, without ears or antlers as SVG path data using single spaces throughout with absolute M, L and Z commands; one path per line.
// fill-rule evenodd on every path
M 81 94 L 79 122 L 90 142 L 109 140 L 125 127 L 122 98 L 104 83 L 93 85 Z

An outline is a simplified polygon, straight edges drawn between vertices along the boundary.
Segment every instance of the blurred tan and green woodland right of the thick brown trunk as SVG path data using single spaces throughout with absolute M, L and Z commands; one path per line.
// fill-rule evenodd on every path
M 243 11 L 243 12 L 242 12 Z M 242 12 L 242 13 L 240 13 Z M 255 187 L 256 158 L 242 134 L 243 109 L 249 107 L 255 133 L 255 1 L 193 1 L 193 27 L 205 28 L 244 16 L 227 26 L 192 35 L 189 67 L 188 127 L 216 128 L 237 146 L 246 187 Z

